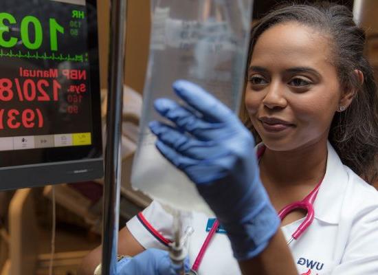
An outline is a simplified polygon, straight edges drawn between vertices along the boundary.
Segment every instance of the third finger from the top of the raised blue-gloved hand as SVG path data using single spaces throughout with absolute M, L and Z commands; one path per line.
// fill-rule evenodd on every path
M 173 148 L 180 155 L 192 159 L 205 159 L 219 154 L 219 148 L 214 146 L 215 142 L 194 139 L 179 129 L 158 121 L 150 122 L 149 126 L 161 142 Z

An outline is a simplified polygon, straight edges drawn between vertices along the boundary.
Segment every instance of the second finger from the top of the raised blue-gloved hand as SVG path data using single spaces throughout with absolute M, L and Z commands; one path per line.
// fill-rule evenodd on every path
M 211 123 L 199 118 L 186 107 L 168 98 L 155 100 L 154 106 L 160 115 L 175 123 L 179 129 L 187 131 L 199 140 L 216 139 L 219 137 L 219 131 L 224 127 L 223 123 Z

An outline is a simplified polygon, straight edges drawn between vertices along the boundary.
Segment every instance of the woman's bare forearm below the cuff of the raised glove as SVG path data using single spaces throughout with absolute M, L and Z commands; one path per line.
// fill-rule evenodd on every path
M 271 238 L 263 252 L 247 261 L 239 261 L 239 266 L 243 275 L 298 275 L 281 230 Z

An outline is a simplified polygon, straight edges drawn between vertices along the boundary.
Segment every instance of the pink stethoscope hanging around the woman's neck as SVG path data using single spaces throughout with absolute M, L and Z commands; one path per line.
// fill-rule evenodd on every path
M 257 149 L 258 159 L 260 159 L 260 157 L 264 154 L 265 148 L 266 148 L 265 146 L 258 147 Z M 282 221 L 283 219 L 285 219 L 285 217 L 287 217 L 289 213 L 293 212 L 294 210 L 303 209 L 307 211 L 307 215 L 304 218 L 304 221 L 302 221 L 302 223 L 300 223 L 296 231 L 293 232 L 293 234 L 291 234 L 291 238 L 289 239 L 289 241 L 287 241 L 287 245 L 289 245 L 292 241 L 297 240 L 300 236 L 302 236 L 304 231 L 306 231 L 307 228 L 309 228 L 309 226 L 313 222 L 313 219 L 315 217 L 315 211 L 313 210 L 313 203 L 315 202 L 315 199 L 318 195 L 319 188 L 322 185 L 323 179 L 324 177 L 320 179 L 319 183 L 315 186 L 315 188 L 313 188 L 313 190 L 309 193 L 309 195 L 304 197 L 304 199 L 302 199 L 301 201 L 295 201 L 293 203 L 290 203 L 289 205 L 282 208 L 280 212 L 278 212 L 278 217 L 280 217 Z M 210 241 L 212 240 L 212 237 L 214 236 L 214 234 L 216 234 L 216 230 L 218 230 L 218 228 L 219 228 L 219 221 L 216 220 L 214 224 L 212 225 L 212 228 L 210 232 L 208 233 L 208 236 L 206 236 L 206 239 L 203 242 L 201 249 L 199 250 L 199 253 L 197 254 L 197 257 L 192 265 L 192 269 L 190 270 L 190 272 L 186 273 L 186 275 L 197 274 L 199 270 L 199 265 L 201 265 L 203 256 L 205 255 L 205 252 L 208 249 Z

